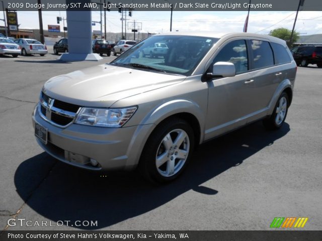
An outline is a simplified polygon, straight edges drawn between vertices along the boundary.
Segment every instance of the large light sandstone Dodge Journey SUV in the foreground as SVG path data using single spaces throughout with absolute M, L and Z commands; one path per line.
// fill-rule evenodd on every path
M 154 43 L 167 54 L 143 57 Z M 198 144 L 259 119 L 279 129 L 295 75 L 285 41 L 271 36 L 155 35 L 109 64 L 48 80 L 32 115 L 36 140 L 70 165 L 171 181 Z

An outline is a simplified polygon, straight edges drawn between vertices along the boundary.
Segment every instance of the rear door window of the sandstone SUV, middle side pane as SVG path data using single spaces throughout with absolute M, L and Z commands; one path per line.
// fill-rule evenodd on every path
M 274 57 L 270 44 L 266 41 L 252 40 L 254 69 L 274 65 Z

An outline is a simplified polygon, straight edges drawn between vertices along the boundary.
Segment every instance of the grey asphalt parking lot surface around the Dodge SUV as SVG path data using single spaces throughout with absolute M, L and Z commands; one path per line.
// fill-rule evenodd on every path
M 258 122 L 207 142 L 178 180 L 155 187 L 136 172 L 68 166 L 37 145 L 31 112 L 44 82 L 114 59 L 60 62 L 49 49 L 44 57 L 0 57 L 2 229 L 268 230 L 274 217 L 308 217 L 303 229 L 321 230 L 322 69 L 298 67 L 281 130 Z M 9 218 L 32 222 L 7 226 Z

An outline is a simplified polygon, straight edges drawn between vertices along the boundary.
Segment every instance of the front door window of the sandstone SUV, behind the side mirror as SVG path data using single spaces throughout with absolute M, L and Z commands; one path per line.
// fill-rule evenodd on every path
M 219 61 L 233 63 L 236 68 L 236 74 L 247 71 L 248 56 L 245 40 L 235 40 L 224 46 L 215 57 L 212 64 Z

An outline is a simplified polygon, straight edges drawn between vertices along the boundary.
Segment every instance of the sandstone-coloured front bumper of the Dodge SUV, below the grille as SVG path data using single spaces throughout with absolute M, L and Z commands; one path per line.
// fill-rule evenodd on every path
M 36 105 L 32 122 L 48 129 L 48 143 L 38 144 L 51 156 L 67 164 L 91 170 L 131 170 L 138 164 L 145 141 L 154 125 L 100 128 L 72 124 L 65 129 L 45 121 Z M 99 164 L 93 166 L 90 158 Z

